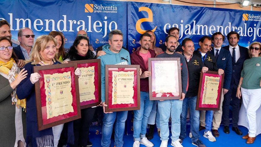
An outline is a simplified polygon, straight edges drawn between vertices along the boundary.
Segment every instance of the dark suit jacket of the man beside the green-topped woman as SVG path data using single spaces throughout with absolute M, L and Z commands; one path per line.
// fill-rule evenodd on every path
M 238 45 L 239 46 L 239 45 Z M 223 47 L 225 50 L 229 51 L 229 45 Z M 232 78 L 231 78 L 231 86 L 235 89 L 238 86 L 240 77 L 241 77 L 241 71 L 243 69 L 243 64 L 246 59 L 249 59 L 248 54 L 248 48 L 245 48 L 243 46 L 239 46 L 240 51 L 240 57 L 236 63 L 232 61 Z M 231 53 L 230 53 L 231 55 Z

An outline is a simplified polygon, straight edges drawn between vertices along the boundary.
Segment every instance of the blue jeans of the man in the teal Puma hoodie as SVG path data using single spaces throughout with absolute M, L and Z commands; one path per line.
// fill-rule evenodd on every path
M 123 134 L 125 129 L 125 121 L 127 119 L 128 111 L 119 111 L 113 113 L 104 113 L 103 125 L 102 125 L 102 136 L 101 136 L 101 146 L 109 147 L 111 144 L 112 128 L 114 121 L 116 124 L 114 126 L 114 146 L 123 146 Z

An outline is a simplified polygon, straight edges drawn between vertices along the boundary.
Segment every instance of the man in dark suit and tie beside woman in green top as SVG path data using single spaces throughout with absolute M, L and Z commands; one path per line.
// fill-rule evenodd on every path
M 230 83 L 230 89 L 227 94 L 224 95 L 223 102 L 223 123 L 224 123 L 224 132 L 229 134 L 229 105 L 230 99 L 232 97 L 232 130 L 236 134 L 242 135 L 242 132 L 238 129 L 238 116 L 240 110 L 241 99 L 236 97 L 236 90 L 239 83 L 241 70 L 243 69 L 243 64 L 248 56 L 248 49 L 239 46 L 239 34 L 235 31 L 231 31 L 227 34 L 227 40 L 229 45 L 225 46 L 224 49 L 230 51 L 232 56 L 232 78 Z

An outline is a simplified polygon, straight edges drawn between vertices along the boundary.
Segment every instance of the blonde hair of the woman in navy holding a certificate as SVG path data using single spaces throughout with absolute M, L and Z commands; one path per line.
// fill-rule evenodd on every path
M 40 55 L 40 51 L 45 50 L 45 47 L 50 43 L 50 41 L 53 41 L 55 46 L 57 45 L 56 39 L 50 35 L 42 35 L 38 37 L 32 48 L 31 57 L 26 61 L 26 63 L 32 62 L 31 64 L 38 64 L 40 61 L 43 61 L 43 58 Z M 57 54 L 55 55 L 54 59 L 55 61 L 58 61 Z

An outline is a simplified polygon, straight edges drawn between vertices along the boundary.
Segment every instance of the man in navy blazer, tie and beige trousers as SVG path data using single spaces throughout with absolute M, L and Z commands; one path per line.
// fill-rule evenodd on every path
M 213 135 L 215 137 L 219 136 L 218 128 L 221 123 L 221 118 L 222 118 L 222 103 L 224 100 L 224 94 L 228 92 L 230 89 L 230 81 L 231 81 L 231 76 L 232 76 L 232 57 L 230 55 L 230 52 L 228 50 L 225 50 L 222 48 L 222 43 L 225 39 L 225 36 L 220 33 L 216 32 L 212 35 L 211 37 L 212 42 L 214 44 L 213 49 L 211 50 L 211 53 L 215 56 L 217 60 L 217 67 L 219 70 L 224 71 L 225 77 L 224 77 L 224 84 L 223 84 L 223 93 L 221 95 L 221 102 L 220 102 L 220 110 L 214 111 L 214 116 L 213 116 Z M 201 115 L 202 113 L 200 113 Z M 204 115 L 204 114 L 203 114 Z M 200 120 L 200 122 L 205 122 L 205 120 Z

